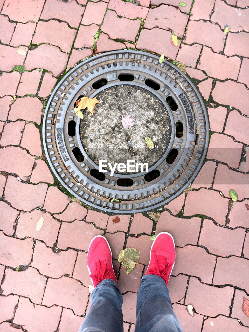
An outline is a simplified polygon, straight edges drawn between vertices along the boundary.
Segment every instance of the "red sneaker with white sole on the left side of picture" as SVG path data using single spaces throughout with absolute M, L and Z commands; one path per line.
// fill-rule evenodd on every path
M 87 269 L 94 288 L 104 279 L 112 279 L 117 283 L 112 258 L 107 239 L 102 235 L 95 236 L 87 253 Z

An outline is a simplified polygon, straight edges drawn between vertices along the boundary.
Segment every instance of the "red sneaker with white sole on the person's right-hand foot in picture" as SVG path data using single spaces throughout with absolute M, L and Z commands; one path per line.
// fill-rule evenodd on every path
M 173 236 L 167 232 L 157 235 L 150 249 L 150 261 L 145 275 L 161 277 L 168 286 L 169 277 L 176 260 L 176 248 Z

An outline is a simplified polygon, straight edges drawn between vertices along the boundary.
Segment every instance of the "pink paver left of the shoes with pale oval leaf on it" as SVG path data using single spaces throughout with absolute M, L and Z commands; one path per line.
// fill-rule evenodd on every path
M 43 217 L 44 222 L 39 232 L 37 232 L 36 224 L 40 217 Z M 26 236 L 36 238 L 44 241 L 47 246 L 53 247 L 58 235 L 59 226 L 59 222 L 53 219 L 50 213 L 41 210 L 21 212 L 18 220 L 16 236 L 19 238 L 24 238 Z

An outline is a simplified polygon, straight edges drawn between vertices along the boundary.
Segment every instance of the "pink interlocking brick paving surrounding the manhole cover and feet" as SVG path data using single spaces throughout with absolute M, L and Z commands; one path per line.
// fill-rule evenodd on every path
M 178 4 L 0 0 L 1 332 L 78 331 L 90 307 L 86 252 L 98 234 L 110 241 L 124 293 L 124 331 L 133 332 L 150 236 L 163 230 L 176 242 L 169 290 L 183 331 L 249 331 L 241 309 L 249 300 L 249 4 Z M 115 223 L 112 215 L 72 202 L 56 187 L 40 140 L 57 79 L 87 56 L 126 47 L 186 64 L 210 121 L 207 159 L 192 190 L 164 206 L 157 222 L 138 213 Z M 117 261 L 125 247 L 141 250 L 128 276 Z

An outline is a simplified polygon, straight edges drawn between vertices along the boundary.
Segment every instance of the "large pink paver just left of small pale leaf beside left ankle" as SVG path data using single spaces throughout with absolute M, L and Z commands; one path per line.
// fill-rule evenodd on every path
M 73 309 L 76 315 L 83 315 L 87 305 L 88 287 L 84 287 L 79 281 L 68 277 L 51 279 L 47 281 L 42 304 L 53 304 Z

